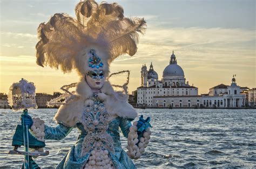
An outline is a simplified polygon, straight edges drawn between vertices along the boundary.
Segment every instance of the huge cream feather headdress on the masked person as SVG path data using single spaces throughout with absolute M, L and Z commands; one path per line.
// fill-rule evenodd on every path
M 38 65 L 60 68 L 64 73 L 76 69 L 84 76 L 92 70 L 88 60 L 94 50 L 108 74 L 109 64 L 119 55 L 137 52 L 139 33 L 146 29 L 144 18 L 126 18 L 117 3 L 98 5 L 92 0 L 79 2 L 75 11 L 76 19 L 56 13 L 39 25 Z

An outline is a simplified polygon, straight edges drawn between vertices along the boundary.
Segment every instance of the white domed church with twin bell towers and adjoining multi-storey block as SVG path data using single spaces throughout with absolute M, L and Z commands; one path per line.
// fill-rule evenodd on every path
M 146 65 L 143 65 L 140 73 L 142 83 L 137 88 L 137 106 L 191 107 L 197 105 L 198 98 L 201 97 L 198 96 L 198 88 L 186 82 L 184 71 L 177 64 L 174 53 L 171 55 L 170 64 L 164 69 L 161 80 L 158 80 L 152 63 L 149 71 Z

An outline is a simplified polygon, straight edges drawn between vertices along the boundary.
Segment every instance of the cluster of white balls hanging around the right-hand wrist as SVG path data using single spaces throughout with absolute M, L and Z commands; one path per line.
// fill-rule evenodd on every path
M 130 127 L 130 132 L 128 135 L 127 154 L 131 159 L 139 159 L 142 156 L 142 153 L 145 152 L 147 144 L 149 144 L 151 135 L 150 128 L 147 128 L 143 133 L 143 137 L 138 139 L 137 124 L 138 122 L 133 123 L 133 125 Z

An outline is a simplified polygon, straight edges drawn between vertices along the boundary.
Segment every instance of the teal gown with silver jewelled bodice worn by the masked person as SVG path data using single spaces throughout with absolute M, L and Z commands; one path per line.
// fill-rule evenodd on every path
M 57 127 L 45 125 L 45 139 L 60 140 L 65 138 L 73 127 L 78 128 L 80 135 L 57 168 L 84 168 L 93 147 L 100 145 L 109 151 L 114 168 L 136 168 L 132 160 L 122 149 L 119 127 L 127 138 L 131 120 L 123 117 L 112 117 L 107 113 L 103 101 L 93 96 L 93 105 L 84 105 L 82 118 L 75 126 L 66 126 L 58 122 Z

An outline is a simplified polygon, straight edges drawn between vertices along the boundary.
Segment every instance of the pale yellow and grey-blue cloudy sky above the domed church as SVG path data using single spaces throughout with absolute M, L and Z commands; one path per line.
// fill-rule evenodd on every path
M 60 91 L 78 82 L 76 72 L 63 74 L 36 64 L 37 27 L 55 13 L 75 17 L 78 0 L 0 0 L 0 93 L 24 78 L 37 93 Z M 100 1 L 96 1 L 100 3 Z M 140 86 L 140 69 L 151 62 L 162 78 L 172 51 L 183 68 L 186 81 L 199 94 L 221 83 L 230 85 L 233 74 L 241 87 L 256 87 L 255 1 L 123 0 L 126 17 L 144 17 L 147 30 L 138 52 L 116 59 L 111 73 L 130 70 L 129 93 Z M 113 79 L 113 83 L 123 84 Z

